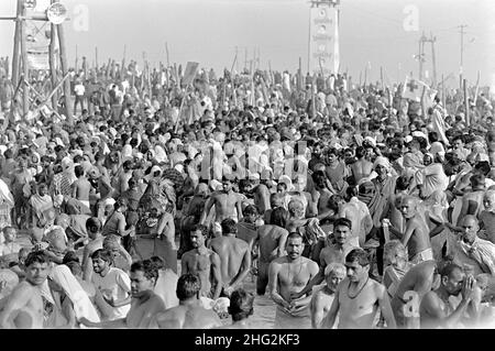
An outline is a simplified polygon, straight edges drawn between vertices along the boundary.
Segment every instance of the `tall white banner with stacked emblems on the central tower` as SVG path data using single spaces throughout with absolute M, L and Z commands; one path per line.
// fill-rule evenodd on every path
M 309 24 L 309 72 L 337 75 L 339 65 L 339 10 L 330 3 L 314 6 Z

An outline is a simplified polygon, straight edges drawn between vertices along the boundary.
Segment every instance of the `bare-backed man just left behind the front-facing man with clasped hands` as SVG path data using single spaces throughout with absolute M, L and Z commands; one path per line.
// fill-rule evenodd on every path
M 265 295 L 268 284 L 268 265 L 276 257 L 285 254 L 285 242 L 288 231 L 285 229 L 288 220 L 288 212 L 283 207 L 277 207 L 272 211 L 270 224 L 261 226 L 257 229 L 255 242 L 260 245 L 260 257 L 257 262 L 257 295 Z

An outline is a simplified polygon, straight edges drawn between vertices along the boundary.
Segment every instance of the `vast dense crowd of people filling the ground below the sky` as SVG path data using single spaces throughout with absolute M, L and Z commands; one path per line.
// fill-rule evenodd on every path
M 265 295 L 282 329 L 493 323 L 490 94 L 182 79 L 72 69 L 69 119 L 2 77 L 0 328 L 250 328 Z

